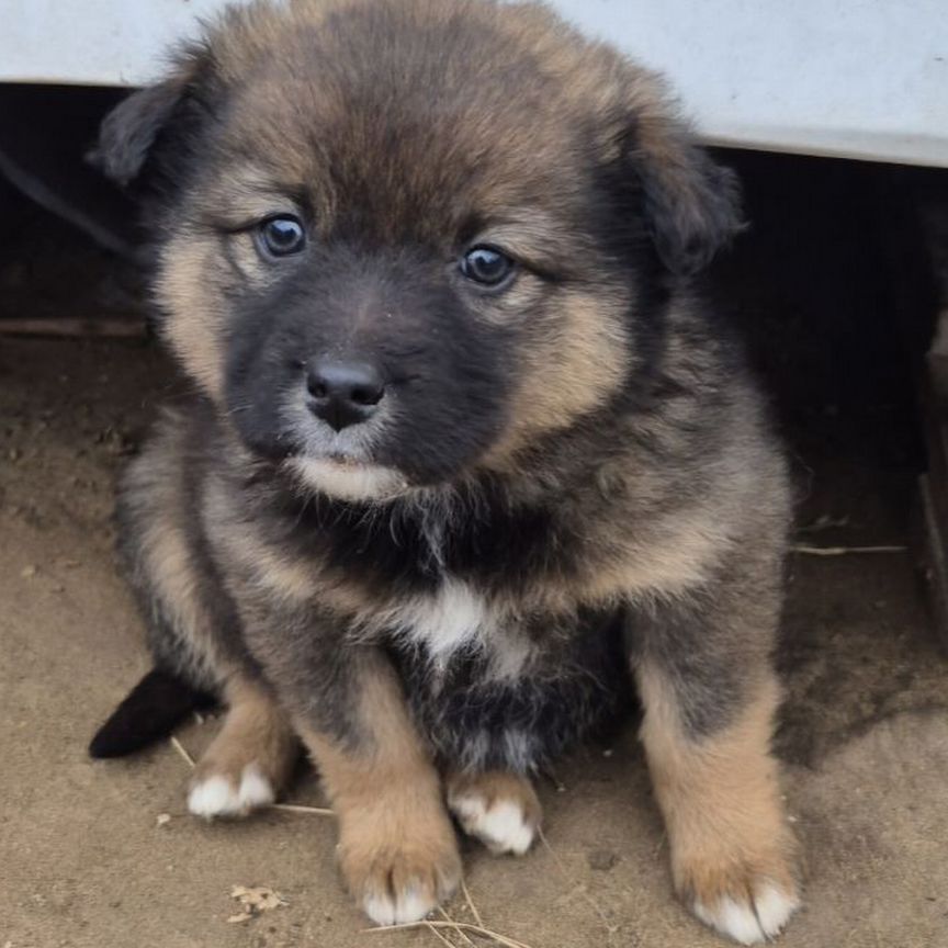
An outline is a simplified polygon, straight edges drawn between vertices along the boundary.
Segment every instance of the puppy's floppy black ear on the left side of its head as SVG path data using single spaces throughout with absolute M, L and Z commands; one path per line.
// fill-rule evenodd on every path
M 208 58 L 189 50 L 171 76 L 156 86 L 133 92 L 103 120 L 98 145 L 89 160 L 123 188 L 140 174 L 159 137 L 171 126 L 185 123 L 189 105 Z

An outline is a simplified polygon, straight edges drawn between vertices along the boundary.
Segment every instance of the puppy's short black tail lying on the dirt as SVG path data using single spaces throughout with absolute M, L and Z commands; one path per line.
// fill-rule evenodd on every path
M 213 695 L 153 668 L 99 729 L 89 745 L 95 758 L 124 757 L 167 737 L 192 711 L 216 704 Z

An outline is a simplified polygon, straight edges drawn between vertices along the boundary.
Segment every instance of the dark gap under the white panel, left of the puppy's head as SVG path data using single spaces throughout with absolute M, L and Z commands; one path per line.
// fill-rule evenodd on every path
M 87 157 L 125 94 L 0 83 L 0 319 L 140 335 L 137 210 Z

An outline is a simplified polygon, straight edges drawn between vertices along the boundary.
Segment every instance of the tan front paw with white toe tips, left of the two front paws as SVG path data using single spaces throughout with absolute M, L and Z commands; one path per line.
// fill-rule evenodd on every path
M 461 857 L 447 814 L 405 822 L 364 816 L 343 825 L 339 862 L 349 891 L 376 925 L 418 922 L 451 898 Z

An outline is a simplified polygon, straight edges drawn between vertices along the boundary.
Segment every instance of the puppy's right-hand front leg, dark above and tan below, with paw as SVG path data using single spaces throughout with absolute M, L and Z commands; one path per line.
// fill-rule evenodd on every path
M 727 597 L 724 597 L 725 601 Z M 640 623 L 642 740 L 675 887 L 706 924 L 744 945 L 777 935 L 799 905 L 795 847 L 770 756 L 778 688 L 770 630 L 720 598 Z

